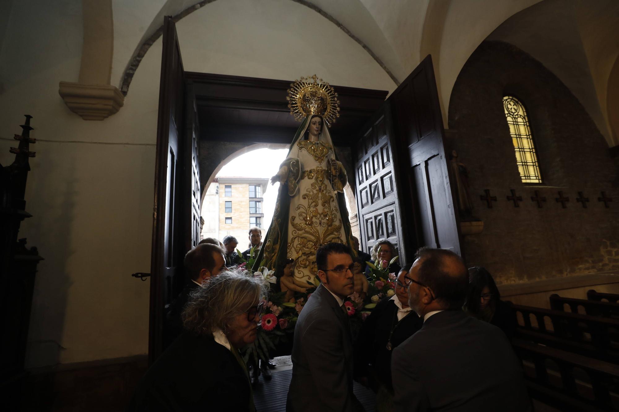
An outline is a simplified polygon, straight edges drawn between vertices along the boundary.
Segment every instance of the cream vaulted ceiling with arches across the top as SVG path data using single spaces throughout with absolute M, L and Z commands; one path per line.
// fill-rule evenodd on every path
M 608 96 L 608 85 L 613 84 L 611 74 L 617 75 L 612 68 L 619 55 L 619 2 L 615 0 L 271 2 L 269 7 L 285 10 L 279 19 L 300 19 L 309 10 L 342 30 L 389 76 L 393 82 L 390 91 L 427 54 L 432 54 L 444 119 L 457 75 L 475 48 L 486 39 L 512 43 L 554 72 L 581 101 L 608 144 L 619 144 L 617 131 L 612 131 L 613 115 L 609 113 L 615 103 Z M 286 3 L 295 3 L 296 8 Z M 112 82 L 130 93 L 131 77 L 149 46 L 160 36 L 164 15 L 175 16 L 179 27 L 187 16 L 192 15 L 196 24 L 216 8 L 217 12 L 225 10 L 241 16 L 243 0 L 117 0 L 113 7 Z M 254 19 L 261 16 L 255 15 Z M 305 30 L 303 22 L 298 22 L 298 27 Z

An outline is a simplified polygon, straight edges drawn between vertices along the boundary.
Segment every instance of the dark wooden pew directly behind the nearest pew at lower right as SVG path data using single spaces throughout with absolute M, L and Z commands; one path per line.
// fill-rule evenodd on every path
M 619 363 L 619 319 L 514 304 L 512 307 L 522 317 L 516 338 Z

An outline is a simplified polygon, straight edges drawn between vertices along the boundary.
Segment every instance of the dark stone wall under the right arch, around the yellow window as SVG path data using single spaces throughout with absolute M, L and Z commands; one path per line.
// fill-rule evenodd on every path
M 543 184 L 523 184 L 503 112 L 503 96 L 525 105 Z M 449 103 L 448 152 L 467 166 L 473 215 L 483 232 L 464 236 L 469 266 L 497 283 L 619 273 L 619 161 L 579 101 L 552 72 L 507 43 L 485 41 L 470 56 Z M 497 197 L 488 208 L 484 189 Z M 522 196 L 514 207 L 510 189 Z M 546 197 L 539 208 L 534 191 Z M 566 208 L 556 202 L 561 191 Z M 609 208 L 598 201 L 612 197 Z M 576 202 L 578 192 L 589 198 Z

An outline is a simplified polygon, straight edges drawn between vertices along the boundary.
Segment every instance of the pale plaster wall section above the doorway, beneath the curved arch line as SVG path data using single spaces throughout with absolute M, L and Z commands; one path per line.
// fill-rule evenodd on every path
M 290 0 L 215 1 L 176 30 L 187 71 L 284 80 L 316 74 L 334 85 L 396 88 L 358 43 Z

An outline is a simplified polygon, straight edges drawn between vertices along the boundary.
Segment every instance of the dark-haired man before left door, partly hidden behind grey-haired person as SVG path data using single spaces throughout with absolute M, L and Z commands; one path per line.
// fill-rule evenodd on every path
M 165 314 L 167 324 L 165 346 L 170 345 L 183 332 L 181 313 L 189 300 L 191 291 L 199 288 L 205 279 L 217 276 L 225 266 L 223 249 L 210 243 L 199 244 L 187 252 L 183 264 L 190 280 Z

